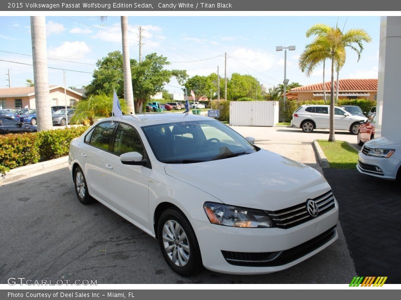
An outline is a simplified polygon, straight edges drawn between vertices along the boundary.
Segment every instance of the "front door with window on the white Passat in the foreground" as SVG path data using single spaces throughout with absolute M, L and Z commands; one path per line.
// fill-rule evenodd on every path
M 107 153 L 107 185 L 110 204 L 137 225 L 149 228 L 148 185 L 150 166 L 123 164 L 120 155 L 139 152 L 147 157 L 137 130 L 131 125 L 118 123 L 112 153 Z

